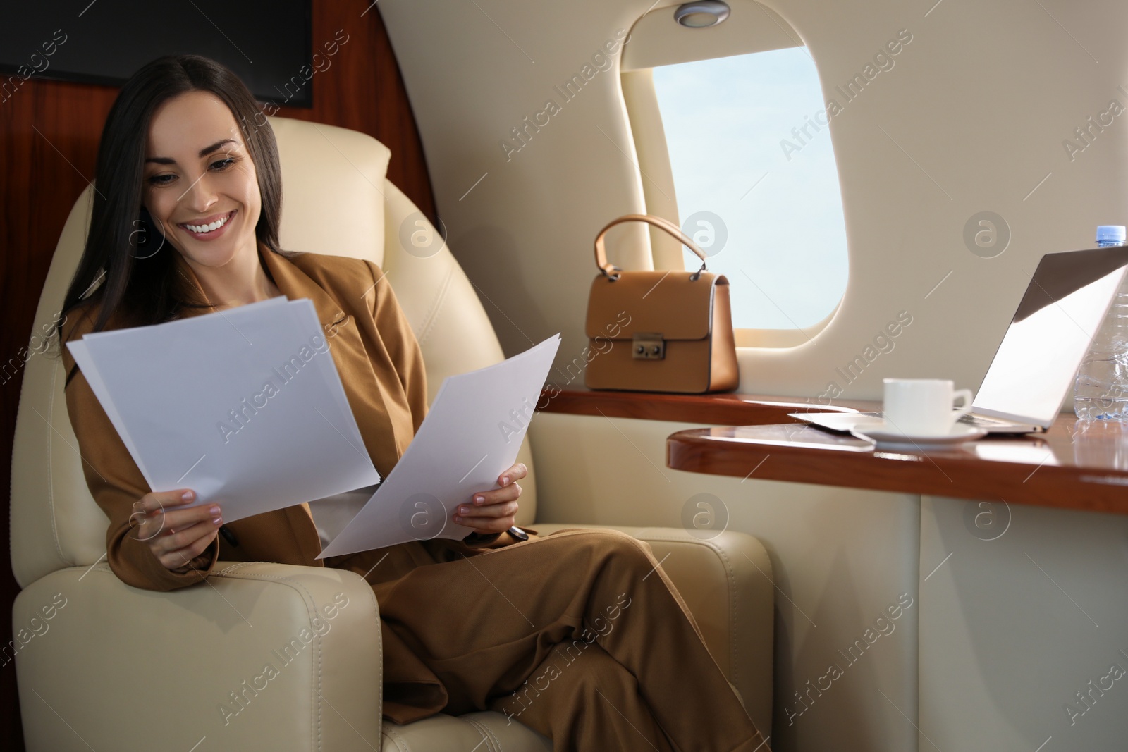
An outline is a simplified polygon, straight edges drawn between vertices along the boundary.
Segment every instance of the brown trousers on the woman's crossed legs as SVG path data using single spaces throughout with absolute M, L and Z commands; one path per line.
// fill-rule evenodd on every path
M 331 561 L 362 575 L 376 565 L 387 696 L 409 704 L 415 691 L 425 706 L 440 692 L 451 715 L 496 710 L 555 752 L 768 752 L 649 543 L 569 529 L 469 554 L 456 541 L 405 546 L 426 550 L 413 554 L 422 566 L 400 558 L 380 573 L 370 555 L 388 549 Z M 415 660 L 441 688 L 395 684 Z

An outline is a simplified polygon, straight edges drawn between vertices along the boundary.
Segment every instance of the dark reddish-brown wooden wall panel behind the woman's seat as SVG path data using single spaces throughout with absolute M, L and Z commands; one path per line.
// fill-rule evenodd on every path
M 347 41 L 315 73 L 314 107 L 279 115 L 368 133 L 391 149 L 388 177 L 434 220 L 434 200 L 403 79 L 376 3 L 315 0 L 312 47 Z M 342 34 L 338 34 L 341 32 Z M 94 177 L 98 138 L 117 90 L 30 79 L 0 101 L 0 497 L 7 510 L 19 357 L 67 215 Z M 279 97 L 282 104 L 282 97 Z M 9 368 L 3 368 L 8 364 Z M 0 645 L 11 639 L 8 514 L 0 519 Z M 81 671 L 81 666 L 77 667 Z M 23 750 L 15 665 L 0 665 L 0 749 Z

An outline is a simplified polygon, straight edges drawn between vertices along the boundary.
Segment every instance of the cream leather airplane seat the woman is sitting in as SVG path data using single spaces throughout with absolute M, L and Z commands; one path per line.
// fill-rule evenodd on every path
M 382 266 L 422 344 L 432 397 L 446 375 L 501 360 L 473 285 L 441 241 L 428 246 L 433 228 L 385 179 L 388 149 L 343 129 L 272 122 L 283 247 Z M 78 264 L 89 195 L 60 238 L 36 327 L 53 320 Z M 352 573 L 220 563 L 205 584 L 173 593 L 124 585 L 105 563 L 107 520 L 82 478 L 63 380 L 56 355 L 28 362 L 12 458 L 11 558 L 24 590 L 6 660 L 15 653 L 28 750 L 552 749 L 495 713 L 381 727 L 378 608 Z M 521 461 L 532 469 L 528 446 Z M 519 522 L 532 524 L 531 472 L 523 488 Z M 576 525 L 536 525 L 563 527 Z M 624 530 L 651 542 L 767 736 L 773 584 L 763 546 L 734 532 Z

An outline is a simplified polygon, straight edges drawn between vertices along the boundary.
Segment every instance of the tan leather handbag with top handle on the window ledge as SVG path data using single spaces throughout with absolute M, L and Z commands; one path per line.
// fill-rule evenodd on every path
M 607 263 L 603 236 L 622 222 L 647 222 L 702 259 L 696 272 L 624 272 Z M 704 393 L 735 389 L 737 345 L 729 281 L 705 269 L 705 254 L 678 225 L 625 214 L 596 236 L 599 275 L 588 297 L 589 389 Z

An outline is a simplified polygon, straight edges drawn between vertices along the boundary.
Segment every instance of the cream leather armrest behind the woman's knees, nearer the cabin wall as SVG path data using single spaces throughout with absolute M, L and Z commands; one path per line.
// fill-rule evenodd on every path
M 609 528 L 650 543 L 748 715 L 765 737 L 770 736 L 775 583 L 764 545 L 732 530 L 703 540 L 680 528 L 530 525 L 541 537 L 569 528 Z

